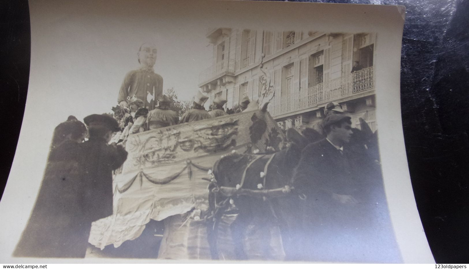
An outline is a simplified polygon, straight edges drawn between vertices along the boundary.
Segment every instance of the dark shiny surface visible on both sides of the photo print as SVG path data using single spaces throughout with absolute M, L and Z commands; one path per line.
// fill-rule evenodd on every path
M 469 0 L 312 2 L 398 4 L 407 8 L 401 112 L 417 208 L 436 262 L 468 263 Z M 28 2 L 2 1 L 0 18 L 1 195 L 15 155 L 28 89 Z

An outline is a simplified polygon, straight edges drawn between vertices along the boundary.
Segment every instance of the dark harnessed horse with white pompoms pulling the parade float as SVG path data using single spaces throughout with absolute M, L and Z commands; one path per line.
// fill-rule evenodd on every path
M 214 212 L 213 226 L 209 229 L 212 258 L 218 259 L 218 222 L 227 211 L 237 214 L 230 225 L 235 258 L 250 257 L 244 249 L 243 240 L 253 233 L 261 233 L 265 240 L 272 240 L 269 227 L 278 226 L 281 232 L 280 246 L 287 259 L 295 259 L 294 232 L 298 230 L 300 212 L 296 210 L 298 193 L 288 188 L 294 168 L 301 157 L 301 150 L 308 141 L 294 129 L 287 130 L 289 146 L 272 154 L 229 154 L 213 165 L 216 182 L 211 184 L 210 206 Z M 287 186 L 287 187 L 286 187 Z M 253 192 L 228 194 L 235 190 Z M 234 206 L 233 206 L 234 204 Z M 235 211 L 230 208 L 235 208 Z M 295 214 L 297 216 L 295 216 Z M 250 234 L 245 234 L 249 225 L 254 225 Z M 211 231 L 210 231 L 211 230 Z M 221 231 L 220 231 L 221 232 Z M 265 244 L 268 245 L 268 244 Z M 266 246 L 256 258 L 276 259 Z M 282 250 L 283 251 L 283 250 Z

